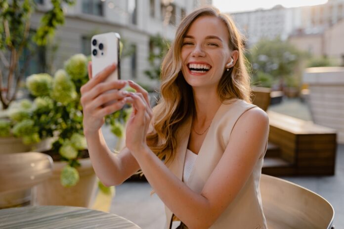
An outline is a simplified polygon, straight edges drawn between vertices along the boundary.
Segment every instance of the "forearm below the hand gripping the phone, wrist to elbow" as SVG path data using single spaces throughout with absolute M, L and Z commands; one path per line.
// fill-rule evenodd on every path
M 106 186 L 121 184 L 124 178 L 120 171 L 120 160 L 107 147 L 101 130 L 86 134 L 89 157 L 97 177 Z

